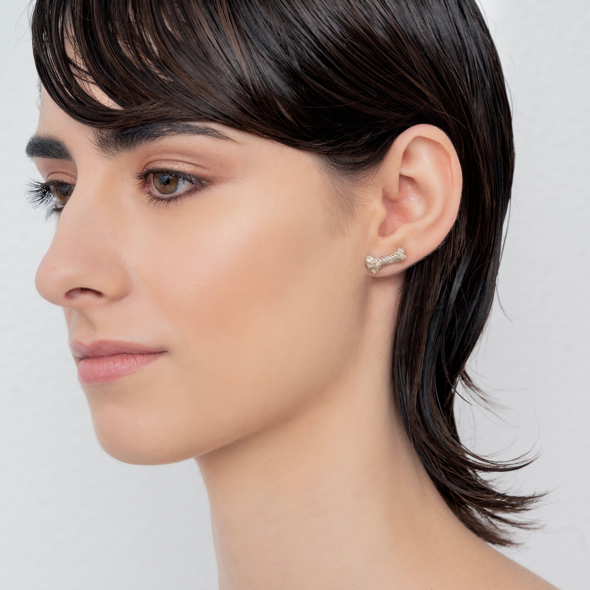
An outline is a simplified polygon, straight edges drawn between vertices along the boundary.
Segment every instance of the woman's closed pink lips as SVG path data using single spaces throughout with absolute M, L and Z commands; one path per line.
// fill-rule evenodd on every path
M 89 345 L 72 342 L 70 349 L 72 354 L 80 359 L 80 383 L 107 383 L 124 375 L 131 375 L 166 352 L 135 342 L 119 340 L 97 340 Z

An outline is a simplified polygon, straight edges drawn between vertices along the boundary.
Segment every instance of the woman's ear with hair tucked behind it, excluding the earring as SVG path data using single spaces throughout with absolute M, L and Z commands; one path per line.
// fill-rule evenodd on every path
M 416 125 L 397 137 L 371 182 L 368 254 L 403 248 L 406 258 L 376 276 L 396 274 L 441 244 L 457 218 L 462 185 L 457 152 L 441 129 Z

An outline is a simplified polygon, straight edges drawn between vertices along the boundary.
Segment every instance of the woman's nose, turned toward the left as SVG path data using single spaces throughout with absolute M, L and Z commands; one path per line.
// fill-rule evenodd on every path
M 120 211 L 96 192 L 78 182 L 35 276 L 44 299 L 76 311 L 120 300 L 131 286 Z

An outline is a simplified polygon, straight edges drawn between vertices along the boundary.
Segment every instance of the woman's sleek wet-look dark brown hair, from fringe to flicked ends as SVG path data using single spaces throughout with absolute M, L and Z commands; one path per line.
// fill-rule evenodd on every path
M 115 133 L 216 122 L 312 152 L 346 178 L 374 171 L 415 124 L 447 133 L 461 205 L 440 247 L 407 270 L 394 395 L 451 510 L 482 539 L 512 543 L 538 496 L 498 491 L 491 476 L 530 461 L 474 454 L 454 415 L 457 388 L 481 394 L 466 363 L 494 299 L 514 167 L 504 77 L 476 1 L 37 0 L 32 40 L 55 103 Z

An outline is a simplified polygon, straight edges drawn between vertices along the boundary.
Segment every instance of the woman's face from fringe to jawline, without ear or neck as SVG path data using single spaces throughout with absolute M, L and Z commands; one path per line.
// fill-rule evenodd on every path
M 362 207 L 339 212 L 309 153 L 188 127 L 100 140 L 43 92 L 30 144 L 65 203 L 37 288 L 64 308 L 101 445 L 132 463 L 289 418 L 342 374 L 363 322 Z

